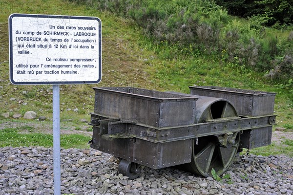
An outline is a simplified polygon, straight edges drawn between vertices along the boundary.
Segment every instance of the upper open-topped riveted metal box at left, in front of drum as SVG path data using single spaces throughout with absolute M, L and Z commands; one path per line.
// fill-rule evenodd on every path
M 194 123 L 196 100 L 191 95 L 132 88 L 94 88 L 94 112 L 153 127 Z M 128 92 L 129 91 L 129 92 Z

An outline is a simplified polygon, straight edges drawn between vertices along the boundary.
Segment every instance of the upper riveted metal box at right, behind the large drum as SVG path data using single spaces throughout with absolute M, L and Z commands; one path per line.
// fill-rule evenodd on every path
M 190 94 L 229 100 L 239 115 L 262 116 L 273 114 L 276 93 L 229 87 L 189 87 Z

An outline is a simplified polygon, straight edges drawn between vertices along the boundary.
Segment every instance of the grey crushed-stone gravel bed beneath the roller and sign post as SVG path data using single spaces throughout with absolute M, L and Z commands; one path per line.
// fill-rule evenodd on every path
M 0 195 L 52 195 L 52 149 L 0 148 Z M 240 155 L 220 181 L 174 168 L 143 168 L 135 180 L 118 173 L 117 159 L 96 150 L 61 152 L 62 194 L 292 195 L 293 158 Z

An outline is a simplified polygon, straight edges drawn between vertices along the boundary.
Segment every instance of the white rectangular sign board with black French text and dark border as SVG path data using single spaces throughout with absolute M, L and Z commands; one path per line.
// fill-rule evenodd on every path
M 96 17 L 9 16 L 10 81 L 15 85 L 101 81 L 101 20 Z

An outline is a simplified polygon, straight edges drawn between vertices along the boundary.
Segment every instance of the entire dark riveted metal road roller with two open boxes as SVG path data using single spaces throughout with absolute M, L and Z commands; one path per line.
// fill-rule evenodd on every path
M 223 174 L 243 148 L 271 144 L 275 93 L 189 88 L 190 94 L 94 87 L 90 147 L 120 158 L 119 173 L 135 179 L 141 166 Z

